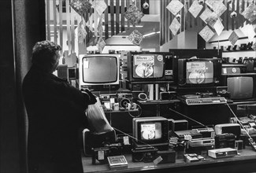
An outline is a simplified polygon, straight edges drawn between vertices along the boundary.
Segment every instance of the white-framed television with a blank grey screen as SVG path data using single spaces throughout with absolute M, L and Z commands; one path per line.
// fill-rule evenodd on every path
M 79 88 L 118 90 L 120 54 L 86 54 L 79 56 Z

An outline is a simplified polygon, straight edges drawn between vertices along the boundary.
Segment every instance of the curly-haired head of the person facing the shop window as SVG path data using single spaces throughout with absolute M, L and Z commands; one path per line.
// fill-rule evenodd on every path
M 55 42 L 48 40 L 36 42 L 32 50 L 32 63 L 41 66 L 53 64 L 59 50 L 61 46 Z

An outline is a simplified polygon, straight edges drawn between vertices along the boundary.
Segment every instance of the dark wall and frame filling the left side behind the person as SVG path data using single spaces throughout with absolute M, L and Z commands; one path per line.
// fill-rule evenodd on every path
M 27 116 L 21 82 L 32 46 L 45 39 L 43 0 L 0 1 L 0 172 L 27 172 Z

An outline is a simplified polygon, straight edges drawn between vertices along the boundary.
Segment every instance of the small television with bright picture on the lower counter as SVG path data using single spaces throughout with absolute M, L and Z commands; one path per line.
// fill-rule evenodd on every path
M 153 146 L 166 149 L 169 145 L 169 121 L 161 116 L 139 117 L 132 120 L 135 147 Z

